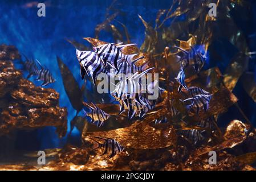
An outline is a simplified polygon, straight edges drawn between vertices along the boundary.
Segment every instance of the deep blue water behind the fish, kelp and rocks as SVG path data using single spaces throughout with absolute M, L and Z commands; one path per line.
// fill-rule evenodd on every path
M 68 121 L 76 114 L 72 108 L 70 101 L 62 84 L 62 78 L 56 62 L 56 55 L 64 61 L 70 68 L 74 77 L 82 85 L 83 81 L 80 78 L 79 64 L 75 55 L 75 48 L 68 43 L 65 38 L 76 40 L 89 46 L 83 37 L 94 37 L 95 27 L 103 22 L 107 7 L 112 1 L 47 1 L 46 2 L 46 17 L 38 17 L 36 6 L 25 7 L 26 3 L 32 1 L 3 1 L 0 2 L 0 43 L 16 46 L 19 51 L 27 55 L 31 59 L 38 59 L 43 65 L 46 65 L 56 78 L 54 84 L 48 85 L 47 88 L 54 88 L 60 93 L 60 106 L 67 107 Z M 128 27 L 131 41 L 139 46 L 144 40 L 144 26 L 137 14 L 149 22 L 154 23 L 157 11 L 159 9 L 167 9 L 171 1 L 161 0 L 144 0 L 144 1 L 117 1 L 117 7 L 121 10 L 121 14 L 117 16 L 117 20 L 124 23 Z M 255 3 L 254 3 L 255 5 Z M 256 51 L 256 6 L 253 8 L 252 19 L 245 20 L 237 17 L 238 27 L 241 28 L 248 37 L 251 50 Z M 254 23 L 253 23 L 254 22 Z M 113 22 L 117 27 L 118 23 Z M 155 25 L 155 24 L 153 24 Z M 250 36 L 250 38 L 249 38 Z M 113 42 L 112 36 L 103 31 L 100 34 L 100 39 L 106 42 Z M 222 45 L 222 49 L 220 47 Z M 209 59 L 209 64 L 204 69 L 218 66 L 222 73 L 225 71 L 226 65 L 235 53 L 234 47 L 230 46 L 223 40 L 216 43 L 218 51 L 224 51 L 222 61 Z M 229 49 L 230 48 L 230 49 Z M 255 58 L 250 71 L 255 72 Z M 250 63 L 251 64 L 251 63 Z M 36 85 L 40 82 L 30 79 Z M 241 107 L 245 108 L 245 114 L 253 122 L 256 121 L 255 110 L 256 106 L 250 97 L 247 96 L 241 85 L 234 90 L 238 96 Z M 237 113 L 235 108 L 231 108 L 231 113 Z M 238 114 L 224 115 L 225 122 L 231 119 L 243 119 Z M 69 125 L 68 125 L 69 130 Z M 59 139 L 55 134 L 54 127 L 46 127 L 30 132 L 20 132 L 17 147 L 22 149 L 35 150 L 38 148 L 62 147 L 66 142 L 66 138 Z M 74 130 L 73 136 L 79 137 L 79 131 Z

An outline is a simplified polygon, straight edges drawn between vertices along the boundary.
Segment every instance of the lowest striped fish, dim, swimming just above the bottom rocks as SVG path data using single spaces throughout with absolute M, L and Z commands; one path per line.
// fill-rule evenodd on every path
M 95 137 L 95 138 L 104 140 L 104 143 L 97 142 L 96 140 L 94 140 L 94 141 L 97 143 L 96 148 L 104 148 L 104 152 L 101 155 L 110 153 L 110 155 L 108 156 L 109 159 L 124 150 L 124 147 L 121 146 L 121 144 L 119 142 L 117 142 L 117 140 L 115 140 L 115 139 L 102 138 L 102 137 Z M 96 148 L 94 148 L 94 150 Z

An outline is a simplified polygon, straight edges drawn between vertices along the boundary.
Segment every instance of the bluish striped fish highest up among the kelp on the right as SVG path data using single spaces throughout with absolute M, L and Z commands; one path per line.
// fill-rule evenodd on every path
M 175 46 L 176 48 L 180 49 L 184 55 L 181 56 L 181 63 L 182 67 L 185 69 L 188 65 L 193 65 L 194 70 L 198 73 L 204 67 L 206 56 L 202 55 L 199 51 L 190 47 L 190 51 L 185 51 L 184 49 Z

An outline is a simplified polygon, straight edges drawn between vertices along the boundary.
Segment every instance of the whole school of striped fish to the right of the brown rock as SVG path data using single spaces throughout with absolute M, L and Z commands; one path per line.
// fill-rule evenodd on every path
M 148 100 L 147 94 L 142 92 L 142 90 L 149 85 L 143 85 L 140 82 L 140 78 L 154 68 L 146 69 L 147 63 L 138 67 L 136 62 L 143 59 L 143 56 L 134 59 L 137 54 L 125 55 L 122 52 L 125 47 L 135 45 L 136 44 L 106 43 L 93 47 L 93 51 L 80 51 L 76 49 L 76 57 L 80 64 L 80 76 L 82 79 L 87 75 L 91 77 L 93 84 L 96 85 L 96 79 L 100 73 L 105 73 L 107 76 L 116 76 L 119 73 L 125 75 L 125 77 L 119 77 L 119 82 L 115 85 L 111 96 L 119 103 L 119 114 L 127 110 L 127 118 L 129 120 L 134 117 L 143 118 L 148 111 L 152 110 L 156 105 L 156 100 Z M 184 69 L 192 65 L 194 70 L 198 73 L 204 66 L 206 57 L 192 47 L 190 52 L 180 47 L 176 48 L 183 54 L 179 60 L 181 68 L 175 78 L 178 84 L 180 84 L 178 92 L 180 93 L 182 89 L 185 89 L 186 92 L 189 93 L 189 98 L 186 98 L 182 102 L 184 102 L 189 110 L 193 110 L 196 113 L 201 109 L 207 111 L 212 94 L 201 88 L 186 86 L 184 72 Z M 111 72 L 111 69 L 113 69 L 114 72 Z M 154 82 L 152 82 L 152 85 L 153 84 Z M 164 89 L 159 88 L 160 94 L 164 91 Z M 101 110 L 93 103 L 91 105 L 86 104 L 86 106 L 87 111 L 84 110 L 85 117 L 89 117 L 90 122 L 98 127 L 103 126 L 104 122 L 110 117 L 109 114 L 105 113 L 105 111 Z M 180 113 L 174 106 L 170 107 L 169 112 L 171 117 L 175 117 Z M 165 115 L 155 119 L 156 124 L 166 122 L 168 122 L 168 117 Z M 201 122 L 198 126 L 204 127 L 204 123 L 206 123 L 206 121 Z M 209 125 L 207 127 L 209 127 Z M 194 144 L 197 144 L 204 139 L 202 133 L 203 131 L 201 130 L 187 130 L 185 137 L 192 140 Z M 101 137 L 98 137 L 98 139 L 103 139 L 105 142 L 99 143 L 95 140 L 98 143 L 96 148 L 104 148 L 103 154 L 107 154 L 108 151 L 111 151 L 109 158 L 123 151 L 123 147 L 115 139 Z

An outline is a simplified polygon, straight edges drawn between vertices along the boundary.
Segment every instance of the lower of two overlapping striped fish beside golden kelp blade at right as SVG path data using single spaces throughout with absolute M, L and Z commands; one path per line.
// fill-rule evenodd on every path
M 200 111 L 200 109 L 203 107 L 205 111 L 209 108 L 210 100 L 212 99 L 212 95 L 206 95 L 206 94 L 198 94 L 192 98 L 187 98 L 183 102 L 190 101 L 191 104 L 189 105 L 190 108 L 196 108 L 197 113 Z

